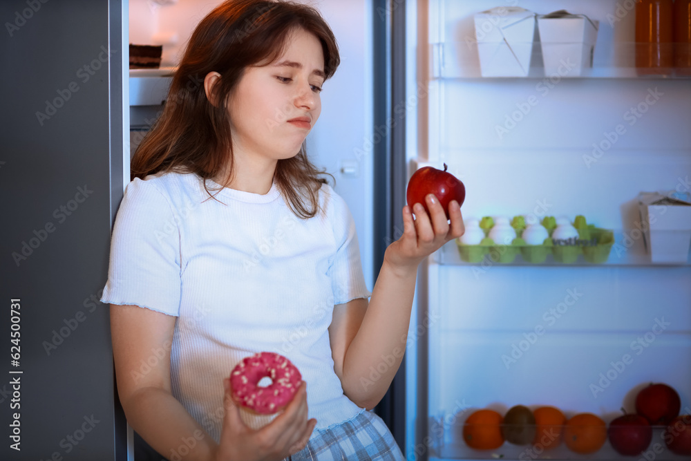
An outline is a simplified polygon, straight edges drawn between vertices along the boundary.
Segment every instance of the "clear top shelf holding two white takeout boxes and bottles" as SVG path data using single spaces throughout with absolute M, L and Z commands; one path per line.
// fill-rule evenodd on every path
M 543 65 L 542 44 L 539 41 L 512 43 L 509 47 L 506 43 L 478 43 L 477 41 L 456 41 L 451 43 L 437 43 L 430 45 L 430 77 L 432 79 L 547 79 L 556 83 L 561 79 L 578 78 L 635 78 L 635 79 L 691 79 L 691 68 L 670 68 L 664 73 L 651 74 L 649 70 L 636 68 L 636 44 L 635 42 L 617 42 L 596 44 L 592 50 L 583 51 L 577 59 L 560 59 L 562 65 L 551 70 L 546 70 Z M 589 48 L 587 44 L 550 44 L 550 46 L 563 46 L 565 52 L 562 56 L 569 55 L 569 50 Z M 674 46 L 674 44 L 668 44 Z M 499 66 L 501 70 L 502 59 L 513 60 L 507 63 L 508 75 L 483 77 L 480 55 L 494 59 L 493 68 Z M 527 62 L 517 63 L 520 55 L 529 55 Z M 529 62 L 529 65 L 527 64 Z M 590 66 L 590 62 L 592 66 Z M 524 67 L 527 66 L 527 67 Z M 512 70 L 513 68 L 513 70 Z M 485 68 L 487 69 L 487 67 Z M 518 69 L 518 74 L 515 70 Z M 497 72 L 493 72 L 496 75 Z

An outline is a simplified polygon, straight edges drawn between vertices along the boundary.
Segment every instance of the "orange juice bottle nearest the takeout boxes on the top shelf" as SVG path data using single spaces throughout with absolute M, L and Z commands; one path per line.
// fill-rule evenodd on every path
M 638 75 L 671 75 L 674 68 L 672 0 L 636 2 Z

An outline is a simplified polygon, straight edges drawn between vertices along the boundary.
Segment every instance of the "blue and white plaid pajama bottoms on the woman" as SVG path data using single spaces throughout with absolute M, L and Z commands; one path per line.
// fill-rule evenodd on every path
M 405 460 L 384 421 L 371 411 L 314 433 L 304 449 L 285 461 Z

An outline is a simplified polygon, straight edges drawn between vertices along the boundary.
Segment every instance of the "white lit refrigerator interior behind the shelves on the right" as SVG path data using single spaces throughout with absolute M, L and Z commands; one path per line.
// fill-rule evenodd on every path
M 527 77 L 483 78 L 473 15 L 502 3 L 411 3 L 411 172 L 447 164 L 466 186 L 466 222 L 581 214 L 615 243 L 604 264 L 464 263 L 455 242 L 430 257 L 406 359 L 409 459 L 618 459 L 609 442 L 592 455 L 475 451 L 462 426 L 519 404 L 609 423 L 650 382 L 674 387 L 691 414 L 691 267 L 650 263 L 637 208 L 641 191 L 690 191 L 691 80 L 636 76 L 634 2 L 505 2 L 599 21 L 593 68 L 576 78 L 545 76 L 537 43 Z

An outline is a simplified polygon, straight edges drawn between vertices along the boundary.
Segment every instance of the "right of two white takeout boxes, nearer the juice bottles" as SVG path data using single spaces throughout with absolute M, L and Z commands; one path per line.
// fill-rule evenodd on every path
M 542 60 L 547 77 L 579 77 L 593 66 L 598 21 L 565 10 L 538 15 Z

